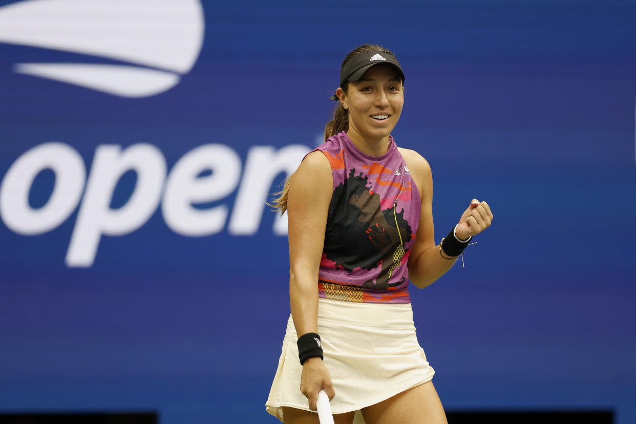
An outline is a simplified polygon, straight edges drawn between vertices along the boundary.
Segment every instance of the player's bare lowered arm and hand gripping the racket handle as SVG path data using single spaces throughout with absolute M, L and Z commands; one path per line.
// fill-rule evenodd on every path
M 333 193 L 331 165 L 321 151 L 307 155 L 289 184 L 289 301 L 296 334 L 318 332 L 318 269 L 324 231 Z M 305 360 L 300 390 L 316 409 L 318 391 L 335 395 L 331 378 L 320 357 Z

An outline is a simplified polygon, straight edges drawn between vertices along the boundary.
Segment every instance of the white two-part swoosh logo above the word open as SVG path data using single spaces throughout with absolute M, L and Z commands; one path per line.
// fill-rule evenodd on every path
M 121 65 L 18 64 L 17 72 L 125 97 L 176 85 L 204 38 L 198 0 L 25 0 L 0 8 L 0 42 L 71 51 Z

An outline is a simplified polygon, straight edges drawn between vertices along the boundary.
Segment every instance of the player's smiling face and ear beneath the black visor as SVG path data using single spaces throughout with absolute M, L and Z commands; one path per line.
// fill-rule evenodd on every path
M 350 81 L 347 93 L 336 92 L 349 110 L 349 138 L 357 144 L 386 146 L 404 105 L 404 88 L 394 67 L 378 64 Z

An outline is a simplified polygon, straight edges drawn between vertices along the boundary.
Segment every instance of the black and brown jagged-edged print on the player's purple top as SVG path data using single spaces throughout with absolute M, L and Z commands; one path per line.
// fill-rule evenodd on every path
M 350 171 L 349 177 L 336 187 L 329 205 L 324 252 L 327 259 L 351 273 L 356 268 L 371 270 L 382 267 L 380 275 L 364 282 L 366 289 L 385 290 L 389 287 L 389 269 L 393 253 L 411 240 L 411 228 L 404 219 L 404 210 L 394 216 L 393 209 L 382 210 L 380 195 L 371 194 L 368 177 Z M 397 228 L 396 228 L 397 217 Z M 399 231 L 399 233 L 398 233 Z M 402 284 L 406 278 L 391 286 Z

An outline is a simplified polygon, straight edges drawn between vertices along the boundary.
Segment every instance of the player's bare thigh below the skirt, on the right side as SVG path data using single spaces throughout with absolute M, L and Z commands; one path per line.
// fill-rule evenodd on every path
M 363 408 L 366 424 L 447 424 L 432 381 Z

